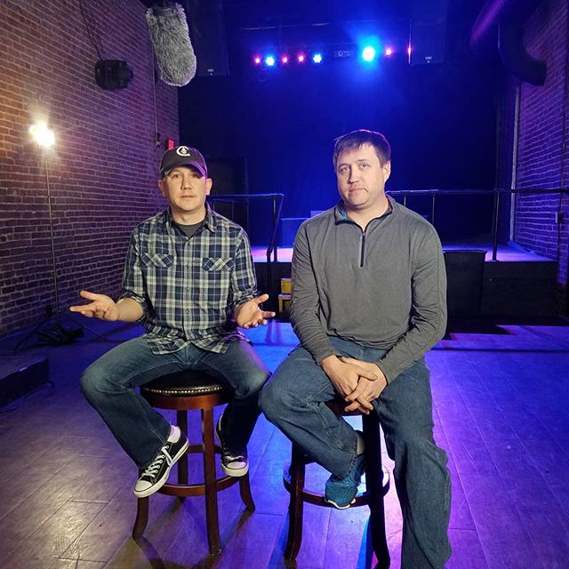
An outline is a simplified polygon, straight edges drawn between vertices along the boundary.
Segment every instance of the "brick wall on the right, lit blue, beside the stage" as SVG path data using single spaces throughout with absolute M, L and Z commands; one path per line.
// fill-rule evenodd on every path
M 566 0 L 546 0 L 525 27 L 525 46 L 545 60 L 543 86 L 521 85 L 517 188 L 568 188 L 569 37 Z M 563 215 L 556 222 L 556 212 Z M 558 284 L 567 286 L 569 196 L 517 196 L 515 240 L 558 260 Z M 561 309 L 566 309 L 565 294 Z M 564 306 L 565 305 L 565 306 Z

